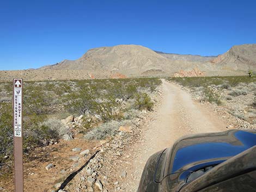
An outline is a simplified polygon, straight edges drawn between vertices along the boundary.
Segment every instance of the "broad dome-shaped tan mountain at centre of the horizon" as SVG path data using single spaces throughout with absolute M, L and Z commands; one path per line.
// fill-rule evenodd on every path
M 147 73 L 148 70 L 165 73 L 180 69 L 179 65 L 171 64 L 172 61 L 147 47 L 118 45 L 93 48 L 77 60 L 65 60 L 57 65 L 46 66 L 42 69 L 76 69 L 87 70 L 92 73 L 98 73 L 99 71 L 103 73 L 120 72 L 124 73 L 124 75 L 139 76 L 142 73 Z

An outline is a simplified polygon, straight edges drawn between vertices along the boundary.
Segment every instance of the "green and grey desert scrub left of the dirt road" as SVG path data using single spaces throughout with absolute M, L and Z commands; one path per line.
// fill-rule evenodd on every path
M 95 79 L 24 83 L 23 150 L 51 145 L 65 135 L 102 139 L 140 110 L 151 110 L 160 79 Z M 0 83 L 0 169 L 13 162 L 12 83 Z M 74 116 L 79 123 L 65 122 Z

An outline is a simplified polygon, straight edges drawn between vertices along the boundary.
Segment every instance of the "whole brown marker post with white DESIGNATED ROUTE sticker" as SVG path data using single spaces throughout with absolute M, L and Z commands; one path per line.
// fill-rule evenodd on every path
M 15 192 L 23 192 L 23 151 L 22 151 L 22 89 L 23 80 L 14 79 L 13 82 L 13 110 L 14 110 L 14 174 Z

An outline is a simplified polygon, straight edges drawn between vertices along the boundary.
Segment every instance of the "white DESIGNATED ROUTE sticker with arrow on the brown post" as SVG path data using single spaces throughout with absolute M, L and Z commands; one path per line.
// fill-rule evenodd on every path
M 22 137 L 22 79 L 14 79 L 14 137 Z

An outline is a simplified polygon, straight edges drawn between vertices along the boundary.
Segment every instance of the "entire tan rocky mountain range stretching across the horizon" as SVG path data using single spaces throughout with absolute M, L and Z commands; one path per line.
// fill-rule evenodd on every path
M 36 70 L 0 71 L 0 80 L 90 79 L 246 75 L 256 71 L 256 44 L 232 47 L 218 57 L 153 51 L 139 45 L 90 49 L 77 60 L 63 60 Z

